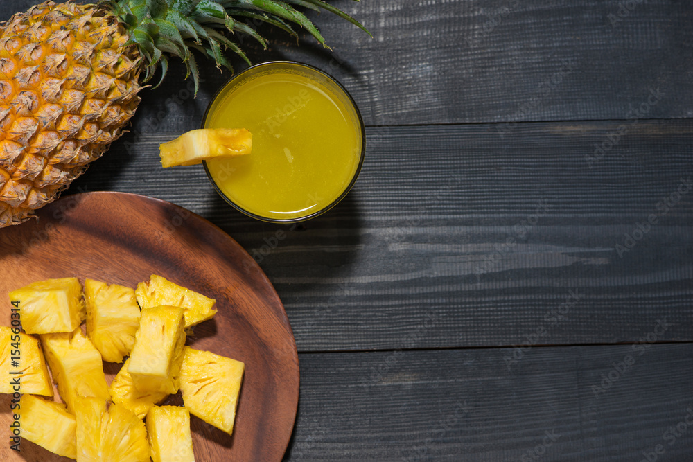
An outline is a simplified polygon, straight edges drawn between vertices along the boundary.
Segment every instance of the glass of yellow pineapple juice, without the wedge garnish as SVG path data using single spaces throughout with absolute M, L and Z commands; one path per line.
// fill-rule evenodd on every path
M 266 222 L 299 222 L 335 206 L 365 153 L 360 112 L 330 75 L 299 62 L 251 66 L 214 96 L 204 128 L 246 128 L 248 155 L 204 162 L 220 195 Z

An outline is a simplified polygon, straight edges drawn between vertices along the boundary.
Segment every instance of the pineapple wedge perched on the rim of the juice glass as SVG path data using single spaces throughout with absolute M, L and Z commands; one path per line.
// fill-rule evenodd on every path
M 192 166 L 215 157 L 250 154 L 252 134 L 245 128 L 200 128 L 159 145 L 161 166 Z

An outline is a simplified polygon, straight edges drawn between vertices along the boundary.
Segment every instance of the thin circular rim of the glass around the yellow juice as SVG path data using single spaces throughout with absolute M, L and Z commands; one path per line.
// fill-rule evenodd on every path
M 249 217 L 255 218 L 256 220 L 261 220 L 263 222 L 269 222 L 269 223 L 297 223 L 297 222 L 304 222 L 306 220 L 310 220 L 312 218 L 315 218 L 319 215 L 322 215 L 326 211 L 330 210 L 333 208 L 335 205 L 339 204 L 342 202 L 342 199 L 347 196 L 353 185 L 356 183 L 356 179 L 358 179 L 358 175 L 361 172 L 361 166 L 363 165 L 363 160 L 365 158 L 366 154 L 366 132 L 365 132 L 365 127 L 363 125 L 363 118 L 361 117 L 361 112 L 358 109 L 358 106 L 356 105 L 356 101 L 353 99 L 349 91 L 344 88 L 344 85 L 340 83 L 339 80 L 334 78 L 332 75 L 326 73 L 325 71 L 322 71 L 322 69 L 318 69 L 315 66 L 312 66 L 310 64 L 306 64 L 304 62 L 298 62 L 298 61 L 290 61 L 290 60 L 277 60 L 277 61 L 267 61 L 267 62 L 261 62 L 258 64 L 254 64 L 252 66 L 249 66 L 247 69 L 241 71 L 240 73 L 231 76 L 226 82 L 224 82 L 223 85 L 221 85 L 217 91 L 214 93 L 214 95 L 211 97 L 209 100 L 209 104 L 207 105 L 207 109 L 204 110 L 204 116 L 202 116 L 202 125 L 201 128 L 204 128 L 205 123 L 207 122 L 207 116 L 209 116 L 209 111 L 216 101 L 216 99 L 219 97 L 219 95 L 224 91 L 227 87 L 233 84 L 233 82 L 236 82 L 243 78 L 247 73 L 251 73 L 256 71 L 259 68 L 268 66 L 277 66 L 277 65 L 289 65 L 289 66 L 299 66 L 303 67 L 305 69 L 308 69 L 308 71 L 311 71 L 313 73 L 317 73 L 318 75 L 322 75 L 324 78 L 327 80 L 330 80 L 337 86 L 337 89 L 342 91 L 344 96 L 347 97 L 349 105 L 353 108 L 354 114 L 356 114 L 356 118 L 358 120 L 358 127 L 360 128 L 361 132 L 361 152 L 359 153 L 359 158 L 358 158 L 358 165 L 356 166 L 356 170 L 353 172 L 353 177 L 351 178 L 351 181 L 349 181 L 349 184 L 347 185 L 346 188 L 342 191 L 342 193 L 337 196 L 333 202 L 330 204 L 324 206 L 318 211 L 315 211 L 313 213 L 310 213 L 306 216 L 303 217 L 293 217 L 293 218 L 272 218 L 272 217 L 263 217 L 262 215 L 258 215 L 256 213 L 252 213 L 251 211 L 247 211 L 245 208 L 241 207 L 240 205 L 236 204 L 236 202 L 232 201 L 227 195 L 225 195 L 221 188 L 219 188 L 218 184 L 216 184 L 216 181 L 214 181 L 211 172 L 209 172 L 209 168 L 207 167 L 207 161 L 202 161 L 202 166 L 204 166 L 204 172 L 207 173 L 207 178 L 211 182 L 212 186 L 214 186 L 214 189 L 216 189 L 216 192 L 227 202 L 227 204 L 231 205 L 232 207 L 236 208 L 237 211 L 240 213 L 243 213 L 244 215 L 247 215 Z

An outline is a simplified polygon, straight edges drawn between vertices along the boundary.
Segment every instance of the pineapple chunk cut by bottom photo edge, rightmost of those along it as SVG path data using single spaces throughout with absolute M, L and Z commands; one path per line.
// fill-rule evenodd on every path
M 195 462 L 188 409 L 152 407 L 147 413 L 147 436 L 154 462 Z

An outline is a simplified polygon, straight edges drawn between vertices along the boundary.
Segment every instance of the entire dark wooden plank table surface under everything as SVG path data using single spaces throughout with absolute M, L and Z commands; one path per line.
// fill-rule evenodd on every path
M 374 38 L 324 13 L 332 53 L 242 40 L 356 99 L 332 211 L 254 221 L 159 166 L 229 78 L 207 64 L 198 98 L 177 64 L 143 91 L 69 192 L 166 199 L 257 256 L 299 349 L 286 460 L 693 460 L 693 3 L 333 3 Z

